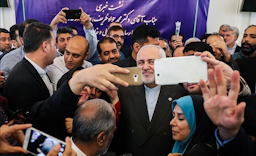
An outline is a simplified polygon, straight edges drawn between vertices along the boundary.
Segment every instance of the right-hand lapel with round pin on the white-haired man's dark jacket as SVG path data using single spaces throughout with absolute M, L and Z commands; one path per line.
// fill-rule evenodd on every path
M 172 91 L 170 86 L 161 86 L 156 108 L 148 128 L 146 140 L 155 133 L 162 121 L 165 119 L 167 113 L 170 112 L 172 99 L 175 99 L 175 97 L 175 90 Z

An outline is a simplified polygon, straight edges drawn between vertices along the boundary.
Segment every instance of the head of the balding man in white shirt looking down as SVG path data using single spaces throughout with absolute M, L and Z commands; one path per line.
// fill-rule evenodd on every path
M 67 44 L 64 61 L 68 69 L 82 66 L 88 57 L 89 43 L 83 36 L 71 38 Z

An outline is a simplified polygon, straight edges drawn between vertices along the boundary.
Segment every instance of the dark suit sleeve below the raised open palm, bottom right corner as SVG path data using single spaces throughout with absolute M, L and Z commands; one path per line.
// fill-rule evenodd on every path
M 256 155 L 256 145 L 246 135 L 244 130 L 240 128 L 236 137 L 220 147 L 217 150 L 218 155 L 236 155 L 236 156 L 253 156 Z

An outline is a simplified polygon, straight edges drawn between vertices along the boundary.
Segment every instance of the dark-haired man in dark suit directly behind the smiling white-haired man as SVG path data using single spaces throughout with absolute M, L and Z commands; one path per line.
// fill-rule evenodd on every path
M 132 54 L 124 60 L 115 62 L 120 67 L 135 67 L 136 57 L 140 48 L 144 45 L 159 45 L 160 32 L 150 25 L 141 25 L 134 29 L 132 34 Z

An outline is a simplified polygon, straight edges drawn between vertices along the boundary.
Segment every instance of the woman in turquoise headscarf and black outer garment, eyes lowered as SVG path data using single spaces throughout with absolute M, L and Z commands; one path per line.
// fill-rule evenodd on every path
M 172 153 L 184 156 L 216 155 L 213 152 L 215 148 L 212 141 L 216 126 L 207 116 L 203 102 L 203 98 L 197 95 L 185 96 L 173 101 L 173 119 L 170 124 L 176 142 Z

